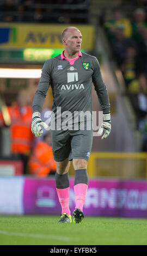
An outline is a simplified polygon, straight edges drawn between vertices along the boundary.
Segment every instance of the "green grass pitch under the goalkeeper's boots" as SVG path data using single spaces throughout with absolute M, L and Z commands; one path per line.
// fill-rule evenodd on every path
M 0 215 L 0 245 L 147 245 L 147 219 Z

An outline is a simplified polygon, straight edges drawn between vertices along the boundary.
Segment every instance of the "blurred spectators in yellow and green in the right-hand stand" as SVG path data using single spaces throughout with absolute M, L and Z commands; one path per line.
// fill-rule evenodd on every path
M 147 3 L 146 3 L 147 4 Z M 147 151 L 147 22 L 143 7 L 127 17 L 117 7 L 103 20 L 115 60 L 124 76 L 126 93 L 143 133 L 143 151 Z

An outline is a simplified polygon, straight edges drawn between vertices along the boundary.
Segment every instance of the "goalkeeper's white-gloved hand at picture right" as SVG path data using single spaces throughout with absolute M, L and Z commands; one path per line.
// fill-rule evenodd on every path
M 104 131 L 104 134 L 101 139 L 106 139 L 111 132 L 111 114 L 103 114 L 103 122 L 99 131 L 97 132 L 98 136 L 101 136 Z

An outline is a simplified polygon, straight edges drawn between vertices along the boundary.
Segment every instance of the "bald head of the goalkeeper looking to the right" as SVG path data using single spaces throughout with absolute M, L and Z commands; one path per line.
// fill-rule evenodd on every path
M 65 48 L 73 52 L 79 52 L 82 44 L 82 34 L 77 29 L 69 29 L 63 39 Z

